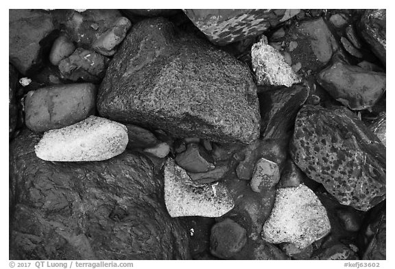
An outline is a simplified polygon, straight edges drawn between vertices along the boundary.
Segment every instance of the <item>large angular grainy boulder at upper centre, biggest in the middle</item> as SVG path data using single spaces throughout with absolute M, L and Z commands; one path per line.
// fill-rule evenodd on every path
M 259 136 L 256 86 L 246 66 L 165 18 L 123 40 L 99 88 L 99 114 L 174 137 L 249 143 Z

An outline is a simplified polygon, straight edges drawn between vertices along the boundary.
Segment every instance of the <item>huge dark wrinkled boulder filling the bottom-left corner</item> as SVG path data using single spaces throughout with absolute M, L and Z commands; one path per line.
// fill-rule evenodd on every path
M 145 156 L 45 162 L 38 140 L 25 129 L 10 144 L 10 259 L 189 258 L 187 233 L 167 214 L 163 179 Z

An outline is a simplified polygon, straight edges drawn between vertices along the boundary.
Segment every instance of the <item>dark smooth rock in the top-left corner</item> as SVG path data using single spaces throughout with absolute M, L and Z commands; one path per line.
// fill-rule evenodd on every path
M 42 10 L 9 10 L 9 59 L 26 75 L 40 64 L 43 48 L 40 42 L 55 29 L 51 16 Z

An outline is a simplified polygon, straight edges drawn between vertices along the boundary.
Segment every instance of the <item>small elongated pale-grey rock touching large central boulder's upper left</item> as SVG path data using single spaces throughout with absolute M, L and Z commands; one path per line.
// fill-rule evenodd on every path
M 126 33 L 132 26 L 128 18 L 117 18 L 114 25 L 106 32 L 101 34 L 92 47 L 98 53 L 105 56 L 112 56 L 115 54 L 115 47 L 119 45 L 126 36 Z

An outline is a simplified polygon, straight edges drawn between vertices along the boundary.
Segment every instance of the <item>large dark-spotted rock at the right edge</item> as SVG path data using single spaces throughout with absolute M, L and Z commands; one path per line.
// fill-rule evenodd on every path
M 345 107 L 302 107 L 290 152 L 342 205 L 367 211 L 385 199 L 385 146 Z

